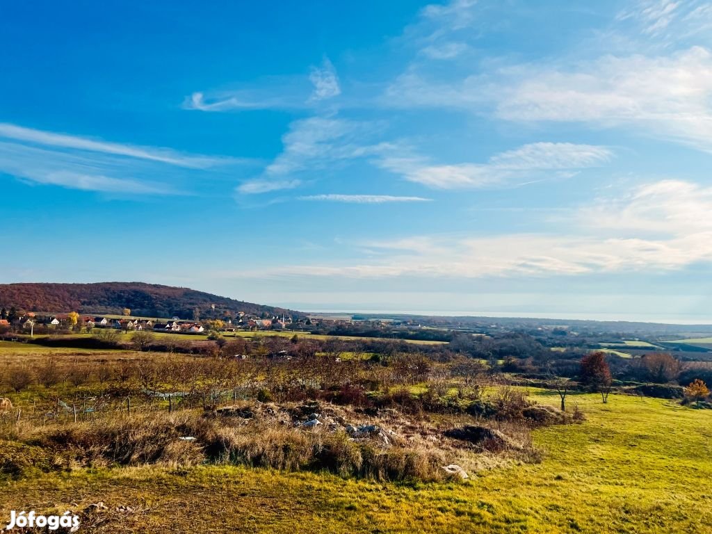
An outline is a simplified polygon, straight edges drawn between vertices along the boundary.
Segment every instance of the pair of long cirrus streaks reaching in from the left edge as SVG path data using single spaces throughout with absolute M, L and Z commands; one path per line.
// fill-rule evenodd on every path
M 34 184 L 113 194 L 184 194 L 177 178 L 236 162 L 244 160 L 0 124 L 0 172 Z M 161 182 L 162 175 L 169 175 L 171 186 Z

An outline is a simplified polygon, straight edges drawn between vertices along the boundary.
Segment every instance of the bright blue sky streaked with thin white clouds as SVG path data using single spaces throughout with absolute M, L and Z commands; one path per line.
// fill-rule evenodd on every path
M 712 3 L 6 3 L 1 282 L 712 322 Z

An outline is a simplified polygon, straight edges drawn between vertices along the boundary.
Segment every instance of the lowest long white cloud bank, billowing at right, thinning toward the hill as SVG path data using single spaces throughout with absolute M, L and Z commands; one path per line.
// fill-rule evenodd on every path
M 712 188 L 684 180 L 637 187 L 624 198 L 600 198 L 566 221 L 565 234 L 413 236 L 371 241 L 377 261 L 288 266 L 245 276 L 350 278 L 483 278 L 661 273 L 712 263 Z M 640 230 L 651 232 L 641 236 Z

